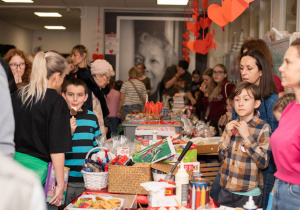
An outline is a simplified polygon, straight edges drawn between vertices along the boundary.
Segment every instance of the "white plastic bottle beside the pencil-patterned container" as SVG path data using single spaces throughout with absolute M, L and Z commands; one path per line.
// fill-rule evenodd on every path
M 189 200 L 189 174 L 184 168 L 183 162 L 180 163 L 180 168 L 175 174 L 176 195 L 179 198 L 179 203 L 182 206 L 187 206 Z

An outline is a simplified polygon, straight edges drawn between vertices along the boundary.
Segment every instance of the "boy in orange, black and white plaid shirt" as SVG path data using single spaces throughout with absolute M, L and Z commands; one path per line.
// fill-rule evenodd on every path
M 237 120 L 226 125 L 219 142 L 223 159 L 220 170 L 221 191 L 218 202 L 229 207 L 242 207 L 249 196 L 258 207 L 262 203 L 262 169 L 269 164 L 271 128 L 256 116 L 261 104 L 259 87 L 239 83 L 232 93 Z

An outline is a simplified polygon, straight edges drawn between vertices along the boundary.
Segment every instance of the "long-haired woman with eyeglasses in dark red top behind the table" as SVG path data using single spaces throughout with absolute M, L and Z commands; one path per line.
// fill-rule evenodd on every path
M 202 103 L 205 121 L 215 128 L 216 135 L 219 136 L 218 120 L 226 113 L 226 98 L 235 85 L 227 80 L 227 70 L 223 64 L 217 64 L 213 68 L 213 80 L 217 86 L 208 93 L 208 97 L 202 99 Z

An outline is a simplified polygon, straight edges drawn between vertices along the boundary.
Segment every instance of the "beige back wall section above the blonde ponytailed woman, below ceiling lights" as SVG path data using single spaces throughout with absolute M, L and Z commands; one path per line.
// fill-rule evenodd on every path
M 41 46 L 42 51 L 56 50 L 59 53 L 70 53 L 77 44 L 80 44 L 79 31 L 35 31 L 31 50 L 35 53 L 34 49 Z

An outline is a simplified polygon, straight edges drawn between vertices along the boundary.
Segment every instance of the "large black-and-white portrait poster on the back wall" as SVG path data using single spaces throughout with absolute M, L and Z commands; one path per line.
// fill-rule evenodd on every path
M 183 33 L 181 17 L 118 16 L 116 79 L 127 81 L 129 69 L 144 63 L 151 82 L 149 100 L 156 101 L 166 68 L 182 59 Z M 190 72 L 195 69 L 195 57 L 191 52 Z

